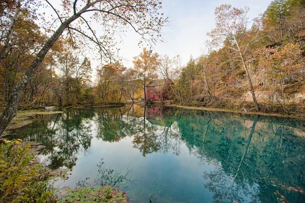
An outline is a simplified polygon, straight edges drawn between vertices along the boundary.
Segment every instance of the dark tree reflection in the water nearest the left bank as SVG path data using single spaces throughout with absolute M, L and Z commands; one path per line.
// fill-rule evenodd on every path
M 22 140 L 45 146 L 40 158 L 51 168 L 72 168 L 77 160 L 77 153 L 88 153 L 90 149 L 93 138 L 90 126 L 94 115 L 93 110 L 76 109 L 67 110 L 63 114 L 38 115 L 39 122 L 16 131 Z

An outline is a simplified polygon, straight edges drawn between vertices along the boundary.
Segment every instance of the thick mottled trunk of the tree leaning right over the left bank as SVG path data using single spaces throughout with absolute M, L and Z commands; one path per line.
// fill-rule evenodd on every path
M 74 14 L 58 27 L 58 29 L 53 33 L 51 38 L 44 44 L 42 49 L 36 55 L 32 64 L 28 67 L 21 80 L 17 83 L 17 85 L 13 89 L 10 98 L 8 100 L 8 104 L 3 114 L 0 116 L 0 136 L 5 130 L 5 128 L 8 126 L 8 124 L 11 122 L 11 120 L 16 116 L 17 107 L 21 95 L 24 92 L 24 89 L 27 86 L 27 84 L 32 80 L 36 70 L 43 61 L 44 57 L 51 49 L 51 47 L 54 45 L 54 43 L 58 40 L 58 38 L 62 35 L 64 30 L 68 28 L 69 24 L 80 16 L 81 12 Z

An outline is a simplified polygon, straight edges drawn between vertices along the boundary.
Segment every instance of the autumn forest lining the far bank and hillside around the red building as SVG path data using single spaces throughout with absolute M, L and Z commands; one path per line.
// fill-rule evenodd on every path
M 64 5 L 67 14 L 72 12 L 69 8 L 72 3 Z M 161 17 L 149 24 L 149 31 L 137 31 L 143 36 L 143 41 L 147 39 L 145 35 L 149 35 L 150 44 L 160 41 L 161 27 L 168 23 L 166 17 L 162 18 L 163 14 L 156 13 L 157 3 L 149 1 L 146 6 L 155 9 L 149 15 Z M 280 114 L 293 114 L 304 106 L 303 0 L 273 1 L 263 14 L 253 20 L 247 17 L 248 7 L 217 7 L 215 28 L 206 33 L 210 40 L 202 42 L 208 48 L 207 53 L 191 56 L 185 65 L 179 55 L 160 55 L 151 47 L 144 47 L 142 53 L 134 57 L 133 66 L 125 67 L 114 52 L 109 51 L 115 47 L 112 31 L 119 28 L 115 27 L 118 25 L 105 27 L 110 34 L 99 37 L 89 21 L 81 16 L 80 25 L 77 25 L 79 29 L 67 25 L 67 33 L 57 36 L 45 56 L 40 57 L 42 60 L 36 64 L 36 71 L 32 70 L 32 77 L 27 77 L 22 88 L 18 87 L 22 89 L 18 97 L 11 96 L 15 95 L 18 82 L 29 76 L 25 74 L 30 70 L 28 67 L 37 63 L 36 59 L 48 44 L 51 33 L 56 33 L 52 30 L 53 23 L 60 20 L 65 25 L 66 21 L 56 10 L 57 16 L 51 25 L 47 20 L 38 24 L 44 19 L 44 13 L 38 12 L 41 6 L 42 2 L 31 0 L 2 1 L 0 5 L 2 110 L 7 104 L 15 103 L 13 100 L 19 101 L 14 104 L 14 108 L 19 109 L 98 106 L 128 100 L 135 103 L 136 100 L 146 100 L 143 95 L 145 85 L 158 78 L 172 81 L 160 89 L 168 96 L 170 104 Z M 75 3 L 74 10 L 76 6 Z M 122 15 L 128 18 L 132 14 Z M 147 16 L 142 17 L 146 19 Z M 130 19 L 130 22 L 134 20 Z M 121 23 L 126 25 L 126 22 Z M 83 24 L 87 26 L 86 31 L 81 28 Z M 153 28 L 155 25 L 159 26 L 158 29 Z M 90 31 L 92 36 L 87 34 Z M 157 37 L 152 34 L 154 31 Z M 84 46 L 90 46 L 88 40 L 95 44 L 93 50 L 104 58 L 97 67 L 92 66 L 83 51 Z

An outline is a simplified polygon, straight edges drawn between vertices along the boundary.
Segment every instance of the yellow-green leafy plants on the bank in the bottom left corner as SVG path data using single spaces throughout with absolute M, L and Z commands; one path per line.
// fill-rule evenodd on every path
M 5 140 L 0 145 L 0 201 L 54 202 L 51 173 L 35 162 L 29 144 Z

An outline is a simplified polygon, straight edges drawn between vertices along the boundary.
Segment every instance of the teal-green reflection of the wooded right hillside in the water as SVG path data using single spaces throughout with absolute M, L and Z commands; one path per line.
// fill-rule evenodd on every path
M 305 186 L 305 143 L 295 136 L 303 125 L 287 127 L 286 119 L 267 117 L 252 118 L 251 124 L 247 116 L 198 114 L 184 114 L 178 124 L 181 139 L 199 163 L 216 166 L 203 176 L 215 202 L 275 202 L 277 190 L 290 202 L 303 202 L 303 194 L 282 187 Z

